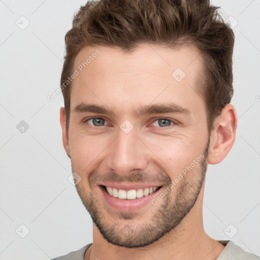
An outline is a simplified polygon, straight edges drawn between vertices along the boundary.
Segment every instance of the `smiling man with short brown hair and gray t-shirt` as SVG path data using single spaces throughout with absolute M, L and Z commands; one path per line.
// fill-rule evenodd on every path
M 231 150 L 234 34 L 209 1 L 92 1 L 66 35 L 63 146 L 93 243 L 55 259 L 258 259 L 203 228 Z

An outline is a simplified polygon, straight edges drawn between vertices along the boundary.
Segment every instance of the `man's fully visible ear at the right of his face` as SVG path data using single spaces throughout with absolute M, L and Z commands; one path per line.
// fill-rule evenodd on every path
M 232 104 L 227 104 L 216 118 L 210 135 L 208 164 L 218 164 L 228 155 L 235 142 L 236 128 L 236 109 Z

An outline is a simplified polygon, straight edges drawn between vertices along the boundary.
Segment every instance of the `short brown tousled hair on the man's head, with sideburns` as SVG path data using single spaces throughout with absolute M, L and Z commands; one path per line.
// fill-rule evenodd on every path
M 209 133 L 215 118 L 233 96 L 234 32 L 209 0 L 89 1 L 74 15 L 65 36 L 66 56 L 60 85 L 72 75 L 74 60 L 85 46 L 119 47 L 132 52 L 139 43 L 165 47 L 196 46 L 203 57 L 199 91 L 207 109 Z M 69 130 L 71 83 L 62 87 Z

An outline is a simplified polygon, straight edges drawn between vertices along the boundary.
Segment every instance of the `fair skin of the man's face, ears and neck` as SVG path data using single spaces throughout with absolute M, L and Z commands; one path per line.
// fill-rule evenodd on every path
M 93 244 L 85 260 L 146 260 L 151 255 L 155 259 L 216 259 L 224 246 L 204 231 L 204 177 L 207 165 L 220 163 L 234 144 L 234 106 L 223 108 L 208 133 L 205 103 L 198 94 L 203 68 L 196 47 L 142 44 L 126 54 L 116 48 L 88 46 L 77 55 L 74 69 L 96 49 L 101 53 L 72 82 L 69 133 L 64 108 L 60 108 L 63 146 L 72 171 L 81 177 L 76 188 L 94 222 Z M 180 82 L 172 77 L 177 68 L 186 75 Z M 73 109 L 83 102 L 104 106 L 114 114 L 76 113 Z M 134 113 L 145 105 L 172 102 L 190 114 L 136 117 Z M 93 120 L 83 123 L 90 116 L 105 121 L 100 126 Z M 164 118 L 173 122 L 165 127 Z M 128 134 L 120 128 L 125 120 L 133 125 Z M 230 121 L 233 124 L 228 128 Z M 154 182 L 166 188 L 200 154 L 204 155 L 201 163 L 156 205 L 121 212 L 109 206 L 98 187 L 106 180 Z

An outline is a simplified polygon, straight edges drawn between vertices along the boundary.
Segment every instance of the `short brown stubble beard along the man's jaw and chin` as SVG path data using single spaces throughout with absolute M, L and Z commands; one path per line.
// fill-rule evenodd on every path
M 169 232 L 174 232 L 196 203 L 205 181 L 208 149 L 209 142 L 204 157 L 198 164 L 199 167 L 188 172 L 160 203 L 156 206 L 151 204 L 151 208 L 157 209 L 150 219 L 144 218 L 145 213 L 138 216 L 135 212 L 123 211 L 114 217 L 95 199 L 94 192 L 88 192 L 83 186 L 76 185 L 77 192 L 93 223 L 109 243 L 127 248 L 144 247 L 158 241 Z M 165 188 L 161 188 L 162 193 Z M 110 221 L 106 220 L 108 218 Z

